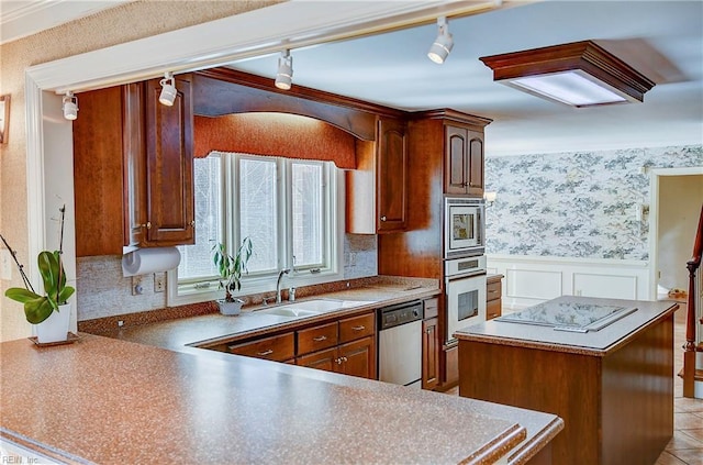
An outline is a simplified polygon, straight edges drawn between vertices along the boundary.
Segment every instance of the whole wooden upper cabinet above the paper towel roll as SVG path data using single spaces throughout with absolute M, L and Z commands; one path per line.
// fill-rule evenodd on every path
M 74 122 L 76 255 L 194 243 L 190 77 L 174 107 L 158 79 L 79 93 Z

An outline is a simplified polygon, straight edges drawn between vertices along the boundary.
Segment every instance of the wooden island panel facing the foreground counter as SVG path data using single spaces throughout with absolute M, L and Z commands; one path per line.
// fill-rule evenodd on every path
M 563 419 L 555 464 L 599 463 L 601 358 L 459 340 L 459 396 Z

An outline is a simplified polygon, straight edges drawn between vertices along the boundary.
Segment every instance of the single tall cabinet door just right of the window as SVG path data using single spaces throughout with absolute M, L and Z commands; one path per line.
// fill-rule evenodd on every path
M 408 180 L 405 122 L 379 119 L 377 137 L 377 230 L 402 231 L 405 229 Z

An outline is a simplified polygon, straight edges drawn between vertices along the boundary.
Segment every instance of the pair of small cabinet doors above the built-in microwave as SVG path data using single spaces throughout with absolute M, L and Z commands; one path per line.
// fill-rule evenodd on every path
M 445 125 L 445 193 L 483 195 L 483 134 Z

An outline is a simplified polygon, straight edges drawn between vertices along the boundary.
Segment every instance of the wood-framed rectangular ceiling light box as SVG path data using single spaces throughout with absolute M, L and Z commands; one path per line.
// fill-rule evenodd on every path
M 572 107 L 641 102 L 655 82 L 592 41 L 479 58 L 493 80 Z

